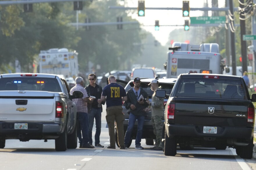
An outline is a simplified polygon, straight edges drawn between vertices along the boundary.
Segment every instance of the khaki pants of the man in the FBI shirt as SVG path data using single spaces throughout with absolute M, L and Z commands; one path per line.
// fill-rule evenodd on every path
M 106 108 L 106 121 L 109 126 L 110 146 L 115 147 L 115 123 L 117 127 L 118 145 L 124 146 L 124 120 L 125 116 L 122 112 L 122 106 L 112 106 Z

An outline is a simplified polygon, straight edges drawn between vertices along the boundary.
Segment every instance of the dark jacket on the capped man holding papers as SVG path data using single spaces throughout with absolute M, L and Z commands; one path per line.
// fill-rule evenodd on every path
M 145 92 L 145 90 L 142 87 L 140 87 L 140 89 L 141 89 L 141 92 L 139 96 L 141 96 L 142 94 L 144 98 L 147 98 L 147 92 Z M 148 106 L 148 104 L 146 101 L 144 101 L 144 105 L 141 105 L 138 103 L 138 99 L 135 96 L 135 93 L 133 92 L 133 87 L 127 91 L 126 95 L 127 95 L 127 100 L 125 101 L 124 106 L 128 110 L 127 111 L 128 114 L 130 114 L 131 112 L 132 114 L 137 116 L 146 116 L 146 112 L 143 111 L 143 109 L 145 109 Z M 131 104 L 135 105 L 136 109 L 132 110 L 130 107 Z

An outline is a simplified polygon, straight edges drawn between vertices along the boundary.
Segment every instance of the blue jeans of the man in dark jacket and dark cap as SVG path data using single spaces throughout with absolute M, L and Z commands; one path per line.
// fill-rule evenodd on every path
M 136 119 L 138 120 L 138 131 L 137 131 L 137 135 L 136 135 L 136 139 L 135 139 L 135 145 L 136 146 L 141 145 L 142 130 L 143 130 L 145 116 L 136 116 L 132 113 L 130 113 L 130 115 L 129 115 L 128 127 L 127 127 L 127 131 L 125 133 L 125 145 L 128 145 L 131 140 L 131 132 L 134 127 Z

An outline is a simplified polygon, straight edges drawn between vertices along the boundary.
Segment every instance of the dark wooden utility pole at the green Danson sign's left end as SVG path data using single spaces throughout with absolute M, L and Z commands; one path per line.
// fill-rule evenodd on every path
M 244 8 L 244 0 L 240 0 L 240 4 L 239 4 L 239 7 L 241 9 Z M 246 55 L 246 50 L 247 50 L 247 47 L 246 47 L 246 41 L 243 41 L 243 35 L 245 35 L 245 16 L 244 16 L 244 11 L 241 11 L 240 13 L 240 36 L 241 36 L 241 55 L 242 55 L 242 70 L 243 72 L 247 71 L 247 55 Z

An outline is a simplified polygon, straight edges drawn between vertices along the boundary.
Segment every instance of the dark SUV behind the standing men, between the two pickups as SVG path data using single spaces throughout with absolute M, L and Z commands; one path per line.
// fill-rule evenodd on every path
M 148 85 L 151 81 L 153 80 L 153 78 L 146 78 L 146 79 L 141 79 L 141 87 L 147 92 L 149 100 L 151 101 L 151 97 L 153 94 L 153 91 L 150 89 L 150 85 Z M 170 93 L 173 89 L 173 85 L 175 84 L 175 81 L 177 80 L 177 78 L 161 78 L 158 79 L 159 81 L 159 86 L 161 87 L 161 89 L 166 90 L 166 97 L 164 98 L 164 103 L 167 102 Z M 117 83 L 122 85 L 125 88 L 125 91 L 127 92 L 131 87 L 134 87 L 133 84 L 133 80 L 129 81 L 128 83 L 126 81 L 121 81 L 117 79 Z M 128 120 L 129 120 L 129 114 L 127 113 L 127 109 L 125 108 L 124 105 L 122 105 L 123 107 L 123 113 L 125 114 L 125 121 L 124 121 L 124 132 L 126 132 L 127 127 L 128 127 Z M 163 120 L 164 122 L 164 113 L 163 113 Z M 137 134 L 137 125 L 138 122 L 136 121 L 132 134 L 131 134 L 131 140 L 128 144 L 127 147 L 131 146 L 131 142 L 133 139 L 136 138 L 136 134 Z M 151 111 L 147 112 L 147 116 L 145 117 L 145 122 L 143 125 L 143 133 L 142 133 L 142 139 L 146 140 L 146 145 L 154 145 L 154 139 L 156 139 L 156 136 L 154 135 L 153 132 L 153 126 L 151 123 Z M 117 132 L 115 131 L 115 137 L 116 137 L 116 145 L 118 146 L 118 140 L 117 140 Z

